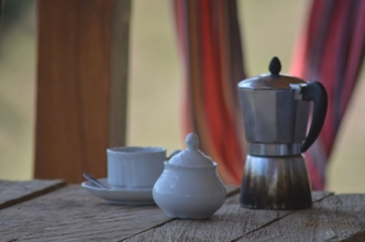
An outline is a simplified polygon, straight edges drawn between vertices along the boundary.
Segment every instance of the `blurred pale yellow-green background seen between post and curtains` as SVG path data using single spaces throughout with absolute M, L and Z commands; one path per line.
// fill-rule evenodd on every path
M 287 73 L 306 0 L 239 0 L 247 76 L 278 56 Z M 170 1 L 133 0 L 128 145 L 184 148 L 182 73 Z M 328 166 L 327 190 L 365 193 L 365 65 Z M 36 0 L 5 1 L 0 24 L 0 179 L 31 179 L 36 97 Z

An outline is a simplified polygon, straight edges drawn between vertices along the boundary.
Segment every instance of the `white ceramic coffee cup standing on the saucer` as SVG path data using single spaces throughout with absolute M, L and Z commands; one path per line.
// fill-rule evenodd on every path
M 112 147 L 107 155 L 108 183 L 113 189 L 153 187 L 167 160 L 164 147 Z

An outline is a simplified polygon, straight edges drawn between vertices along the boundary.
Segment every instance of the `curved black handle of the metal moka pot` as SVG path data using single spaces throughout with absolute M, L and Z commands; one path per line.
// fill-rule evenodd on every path
M 327 113 L 328 96 L 325 88 L 319 81 L 312 81 L 301 87 L 302 100 L 313 101 L 313 117 L 308 135 L 301 145 L 301 152 L 305 153 L 317 140 L 320 134 Z

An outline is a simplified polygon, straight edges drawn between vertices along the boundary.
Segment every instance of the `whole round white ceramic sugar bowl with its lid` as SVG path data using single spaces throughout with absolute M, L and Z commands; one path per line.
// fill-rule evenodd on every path
M 153 199 L 170 218 L 208 219 L 225 201 L 226 191 L 217 174 L 217 164 L 197 146 L 190 133 L 187 150 L 165 162 L 165 169 L 153 188 Z

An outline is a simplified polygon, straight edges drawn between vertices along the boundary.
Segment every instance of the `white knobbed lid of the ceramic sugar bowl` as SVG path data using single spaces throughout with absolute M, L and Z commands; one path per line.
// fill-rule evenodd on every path
M 189 133 L 185 143 L 187 148 L 169 160 L 169 164 L 186 167 L 214 166 L 212 160 L 198 150 L 199 138 L 195 133 Z

